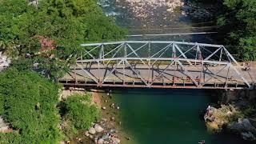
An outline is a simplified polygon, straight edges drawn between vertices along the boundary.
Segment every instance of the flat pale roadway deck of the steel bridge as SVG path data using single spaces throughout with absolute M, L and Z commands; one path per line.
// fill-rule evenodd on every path
M 203 67 L 204 70 L 202 71 L 200 65 L 186 65 L 185 69 L 190 76 L 196 82 L 202 83 L 202 86 L 195 86 L 193 80 L 188 78 L 186 71 L 180 66 L 169 66 L 167 64 L 159 66 L 132 65 L 139 76 L 134 74 L 136 72 L 129 66 L 124 69 L 124 66 L 118 66 L 117 64 L 110 66 L 100 64 L 98 66 L 98 63 L 83 63 L 72 67 L 69 73 L 59 79 L 59 82 L 65 85 L 78 86 L 242 89 L 246 87 L 246 84 L 242 81 L 241 76 L 249 83 L 255 82 L 254 78 L 256 78 L 256 73 L 242 70 L 239 66 L 234 67 L 242 74 L 241 76 L 236 74 L 234 70 L 229 70 L 227 76 L 227 66 L 207 66 L 207 68 Z M 166 69 L 167 66 L 169 66 L 168 69 Z M 94 79 L 85 70 L 90 72 L 99 83 L 94 82 Z M 114 71 L 111 73 L 112 70 Z M 251 71 L 256 71 L 256 69 L 252 68 Z

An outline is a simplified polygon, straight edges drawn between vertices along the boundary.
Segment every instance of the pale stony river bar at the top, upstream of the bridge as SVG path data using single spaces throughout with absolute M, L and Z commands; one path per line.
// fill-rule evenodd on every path
M 141 23 L 141 26 L 169 26 L 178 21 L 182 0 L 116 0 L 116 6 L 127 11 L 123 19 Z

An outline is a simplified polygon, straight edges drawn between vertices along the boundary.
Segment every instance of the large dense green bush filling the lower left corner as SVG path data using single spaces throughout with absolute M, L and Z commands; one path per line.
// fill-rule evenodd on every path
M 61 138 L 58 129 L 60 116 L 58 86 L 31 70 L 14 68 L 0 74 L 0 97 L 3 116 L 20 137 L 22 143 L 57 143 Z M 14 137 L 6 134 L 6 143 Z M 12 142 L 10 142 L 12 143 Z

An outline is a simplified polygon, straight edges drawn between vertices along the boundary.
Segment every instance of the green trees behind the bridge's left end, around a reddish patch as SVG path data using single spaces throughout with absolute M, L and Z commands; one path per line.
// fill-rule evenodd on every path
M 0 42 L 13 43 L 11 57 L 33 59 L 50 78 L 68 70 L 81 43 L 122 39 L 125 34 L 95 0 L 42 0 L 37 6 L 0 0 Z M 56 43 L 55 49 L 38 54 L 42 37 Z

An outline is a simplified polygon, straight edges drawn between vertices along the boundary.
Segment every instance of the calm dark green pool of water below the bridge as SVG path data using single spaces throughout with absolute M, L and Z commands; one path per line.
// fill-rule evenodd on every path
M 114 90 L 114 99 L 121 107 L 122 128 L 133 140 L 125 143 L 246 143 L 206 130 L 203 110 L 214 101 L 203 90 Z

